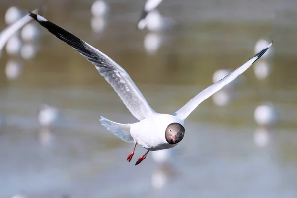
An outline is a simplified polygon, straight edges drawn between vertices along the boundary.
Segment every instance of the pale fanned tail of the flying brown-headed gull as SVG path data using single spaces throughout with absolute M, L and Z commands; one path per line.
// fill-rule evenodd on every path
M 104 127 L 106 127 L 109 131 L 114 133 L 117 137 L 126 142 L 134 142 L 131 134 L 130 134 L 130 126 L 128 124 L 120 124 L 101 116 L 100 122 Z

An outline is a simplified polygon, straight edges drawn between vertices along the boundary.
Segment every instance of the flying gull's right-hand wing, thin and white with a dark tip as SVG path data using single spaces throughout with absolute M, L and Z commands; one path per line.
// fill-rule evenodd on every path
M 253 58 L 249 59 L 245 64 L 225 76 L 223 79 L 218 82 L 210 85 L 198 95 L 196 95 L 193 99 L 191 99 L 187 104 L 185 104 L 181 109 L 176 111 L 173 115 L 179 117 L 180 119 L 186 119 L 192 111 L 205 99 L 209 98 L 211 95 L 222 89 L 225 85 L 229 84 L 236 77 L 246 71 L 256 60 L 258 60 L 272 45 L 272 42 L 262 51 L 257 53 Z

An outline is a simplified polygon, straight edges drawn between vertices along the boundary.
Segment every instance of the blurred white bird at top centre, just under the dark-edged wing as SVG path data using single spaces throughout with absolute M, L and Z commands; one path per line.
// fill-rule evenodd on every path
M 162 31 L 171 28 L 174 23 L 172 18 L 164 17 L 158 10 L 153 10 L 141 23 L 138 23 L 137 27 L 138 29 L 147 28 L 149 31 Z

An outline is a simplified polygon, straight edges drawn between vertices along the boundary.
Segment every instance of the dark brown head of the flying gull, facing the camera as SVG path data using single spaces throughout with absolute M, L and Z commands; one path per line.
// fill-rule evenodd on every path
M 183 139 L 184 134 L 185 128 L 183 127 L 183 125 L 174 122 L 169 124 L 166 128 L 165 138 L 169 144 L 173 145 L 179 143 Z

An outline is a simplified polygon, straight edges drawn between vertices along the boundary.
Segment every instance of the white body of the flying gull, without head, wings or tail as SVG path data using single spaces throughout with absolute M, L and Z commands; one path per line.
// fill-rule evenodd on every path
M 183 122 L 175 116 L 168 114 L 155 114 L 140 122 L 131 124 L 130 133 L 134 141 L 142 147 L 155 151 L 175 147 L 177 144 L 171 145 L 165 139 L 165 130 L 171 123 Z

